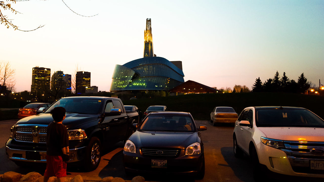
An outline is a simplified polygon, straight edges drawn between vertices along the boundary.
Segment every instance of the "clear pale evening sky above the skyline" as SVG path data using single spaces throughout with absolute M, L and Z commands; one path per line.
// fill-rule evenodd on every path
M 109 91 L 115 64 L 143 57 L 146 18 L 154 53 L 182 61 L 184 80 L 217 88 L 264 82 L 286 72 L 324 83 L 324 1 L 30 0 L 6 12 L 21 32 L 0 25 L 0 61 L 16 69 L 16 92 L 30 91 L 35 66 L 91 72 Z

